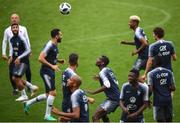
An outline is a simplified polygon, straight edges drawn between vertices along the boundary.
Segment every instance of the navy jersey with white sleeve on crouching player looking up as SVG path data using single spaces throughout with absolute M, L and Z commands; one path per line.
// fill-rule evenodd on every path
M 101 86 L 104 85 L 107 87 L 104 91 L 106 97 L 109 100 L 119 101 L 120 91 L 118 87 L 118 81 L 112 70 L 108 67 L 104 67 L 100 71 L 99 77 Z

